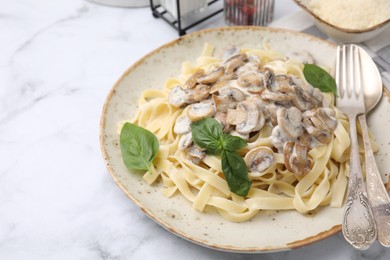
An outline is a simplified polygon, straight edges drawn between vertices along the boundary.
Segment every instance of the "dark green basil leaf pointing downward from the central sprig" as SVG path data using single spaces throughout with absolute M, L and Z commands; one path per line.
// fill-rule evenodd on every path
M 221 160 L 222 172 L 230 190 L 239 196 L 248 195 L 251 182 L 244 159 L 237 152 L 224 150 L 222 151 Z

